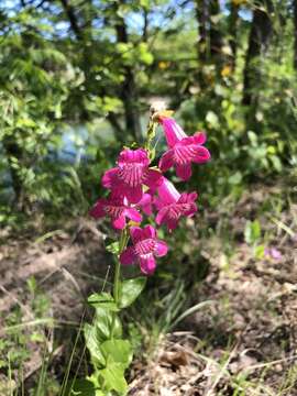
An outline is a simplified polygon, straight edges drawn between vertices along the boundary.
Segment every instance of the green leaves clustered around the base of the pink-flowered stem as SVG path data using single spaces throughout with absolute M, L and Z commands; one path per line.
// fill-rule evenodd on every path
M 95 395 L 111 395 L 113 391 L 119 395 L 127 394 L 124 372 L 132 361 L 133 352 L 130 341 L 122 339 L 122 324 L 117 312 L 138 298 L 145 283 L 144 277 L 123 280 L 118 304 L 105 292 L 92 294 L 88 298 L 96 311 L 92 323 L 85 323 L 84 333 L 94 373 L 88 378 L 92 387 L 89 382 L 82 382 L 82 385 L 89 386 L 90 395 L 92 392 Z

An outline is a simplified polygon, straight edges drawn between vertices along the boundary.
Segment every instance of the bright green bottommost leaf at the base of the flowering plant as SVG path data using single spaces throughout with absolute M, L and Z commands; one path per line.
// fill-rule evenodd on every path
M 120 395 L 125 395 L 128 384 L 124 378 L 124 369 L 120 363 L 110 363 L 106 369 L 99 371 L 105 391 L 116 391 Z

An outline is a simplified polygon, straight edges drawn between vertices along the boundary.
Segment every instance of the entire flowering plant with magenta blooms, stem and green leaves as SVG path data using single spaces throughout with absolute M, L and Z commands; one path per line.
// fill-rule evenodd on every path
M 156 166 L 157 125 L 163 129 L 168 148 Z M 187 136 L 170 111 L 153 106 L 144 146 L 124 147 L 117 166 L 103 174 L 101 183 L 109 195 L 98 199 L 90 215 L 96 219 L 110 218 L 119 241 L 108 249 L 116 257 L 112 293 L 88 298 L 96 314 L 92 323 L 85 324 L 94 366 L 87 381 L 96 396 L 127 394 L 124 372 L 132 361 L 132 348 L 123 339 L 119 314 L 139 297 L 146 276 L 154 274 L 158 258 L 167 254 L 168 246 L 157 237 L 157 228 L 164 224 L 172 232 L 180 218 L 193 217 L 197 211 L 197 193 L 179 193 L 164 173 L 175 167 L 182 180 L 189 179 L 193 164 L 210 160 L 205 142 L 204 133 Z M 122 279 L 121 266 L 127 265 L 138 265 L 142 276 Z

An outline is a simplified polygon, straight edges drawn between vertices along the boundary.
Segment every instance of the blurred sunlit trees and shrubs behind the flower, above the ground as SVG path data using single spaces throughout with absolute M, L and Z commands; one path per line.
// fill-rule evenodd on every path
M 2 1 L 0 221 L 85 213 L 153 98 L 208 132 L 210 205 L 296 166 L 296 26 L 295 1 Z

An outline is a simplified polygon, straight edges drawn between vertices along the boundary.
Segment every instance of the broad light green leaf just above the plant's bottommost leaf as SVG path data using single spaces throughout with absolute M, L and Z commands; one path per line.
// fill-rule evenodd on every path
M 107 362 L 121 363 L 127 369 L 132 361 L 133 353 L 128 340 L 111 339 L 105 341 L 100 349 Z

